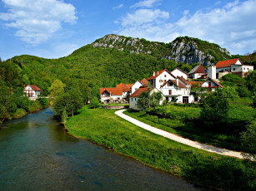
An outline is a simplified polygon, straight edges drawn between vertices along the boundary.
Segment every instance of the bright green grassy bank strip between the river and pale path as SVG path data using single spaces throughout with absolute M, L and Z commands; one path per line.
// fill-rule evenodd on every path
M 88 109 L 68 119 L 71 135 L 92 140 L 144 164 L 208 187 L 253 190 L 256 164 L 178 144 L 114 115 L 115 110 Z

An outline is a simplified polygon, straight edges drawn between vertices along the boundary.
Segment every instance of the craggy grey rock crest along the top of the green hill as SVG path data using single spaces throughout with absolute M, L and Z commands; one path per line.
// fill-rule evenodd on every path
M 163 42 L 149 42 L 145 39 L 107 35 L 92 43 L 93 47 L 117 48 L 129 53 L 143 53 L 164 57 L 176 62 L 189 65 L 201 63 L 203 65 L 216 64 L 217 61 L 230 58 L 230 53 L 217 44 L 201 41 L 198 38 L 178 37 L 168 44 Z

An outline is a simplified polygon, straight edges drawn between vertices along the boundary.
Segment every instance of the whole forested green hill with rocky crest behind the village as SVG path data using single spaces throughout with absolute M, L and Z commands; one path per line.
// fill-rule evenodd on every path
M 163 68 L 188 72 L 197 62 L 207 65 L 230 57 L 225 49 L 197 38 L 178 37 L 166 44 L 107 35 L 59 59 L 23 55 L 0 61 L 0 83 L 12 90 L 33 84 L 48 95 L 49 86 L 59 79 L 67 88 L 97 91 L 98 87 L 148 78 Z

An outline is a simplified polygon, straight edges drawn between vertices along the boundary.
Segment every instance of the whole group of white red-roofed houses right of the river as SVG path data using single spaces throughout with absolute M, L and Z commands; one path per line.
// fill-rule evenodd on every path
M 198 101 L 198 97 L 191 94 L 192 87 L 203 87 L 204 91 L 209 93 L 217 88 L 223 88 L 219 79 L 228 73 L 244 77 L 247 76 L 249 71 L 253 71 L 253 66 L 243 65 L 238 58 L 218 61 L 216 65 L 208 66 L 208 69 L 198 65 L 188 73 L 179 68 L 173 71 L 163 69 L 162 71 L 153 72 L 153 76 L 148 79 L 144 78 L 141 81 L 134 82 L 134 84 L 121 83 L 116 87 L 100 88 L 100 101 L 103 104 L 129 103 L 129 108 L 142 110 L 137 104 L 139 96 L 142 92 L 149 90 L 150 94 L 153 94 L 153 92 L 161 93 L 160 105 L 163 100 L 183 104 L 194 103 Z M 195 81 L 198 79 L 203 81 Z

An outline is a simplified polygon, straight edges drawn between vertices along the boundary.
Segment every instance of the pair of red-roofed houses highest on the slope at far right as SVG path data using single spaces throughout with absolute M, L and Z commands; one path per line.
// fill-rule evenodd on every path
M 217 79 L 220 79 L 229 73 L 244 77 L 248 75 L 249 71 L 253 71 L 253 66 L 243 65 L 239 58 L 227 61 L 218 61 L 215 65 L 215 69 L 213 69 L 213 72 L 216 73 Z M 208 72 L 209 71 L 202 65 L 198 65 L 195 66 L 192 71 L 189 71 L 188 76 L 191 79 L 206 79 Z

